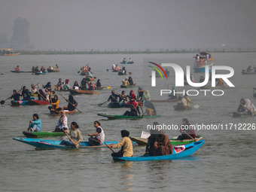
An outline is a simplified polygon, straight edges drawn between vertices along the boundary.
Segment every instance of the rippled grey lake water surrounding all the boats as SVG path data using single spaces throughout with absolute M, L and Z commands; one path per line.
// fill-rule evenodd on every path
M 143 71 L 143 61 L 166 60 L 177 63 L 183 69 L 192 66 L 195 54 L 138 54 L 127 55 L 133 57 L 135 63 L 126 65 L 126 70 L 132 72 L 133 80 L 145 90 L 151 90 L 145 84 L 150 82 L 149 74 Z M 175 103 L 155 103 L 157 119 L 141 120 L 106 120 L 97 116 L 97 113 L 123 114 L 126 108 L 107 108 L 105 102 L 111 90 L 98 90 L 99 94 L 75 96 L 78 108 L 84 113 L 67 114 L 69 124 L 78 122 L 80 130 L 87 141 L 88 133 L 94 133 L 94 120 L 102 123 L 107 141 L 120 141 L 120 130 L 129 130 L 130 136 L 140 136 L 146 131 L 148 124 L 158 121 L 160 124 L 175 124 L 180 126 L 182 118 L 186 117 L 191 124 L 226 124 L 226 123 L 256 123 L 255 117 L 233 118 L 230 113 L 236 111 L 241 98 L 251 99 L 255 86 L 256 75 L 242 75 L 242 69 L 255 64 L 256 53 L 212 53 L 215 65 L 231 66 L 235 75 L 230 81 L 236 86 L 224 90 L 224 96 L 190 96 L 200 108 L 191 111 L 174 111 Z M 93 75 L 102 80 L 102 85 L 111 87 L 120 93 L 121 80 L 111 69 L 123 55 L 39 55 L 39 56 L 0 56 L 0 99 L 11 96 L 12 90 L 20 90 L 22 85 L 56 84 L 58 78 L 65 81 L 69 78 L 70 84 L 74 81 L 80 84 L 82 76 L 78 74 L 81 66 L 90 62 Z M 44 66 L 58 63 L 60 72 L 35 76 L 30 73 L 14 74 L 10 70 L 20 65 L 23 71 L 30 71 L 32 66 Z M 149 69 L 149 68 L 148 68 Z M 174 85 L 172 72 L 168 86 Z M 194 74 L 196 81 L 200 75 Z M 157 82 L 162 80 L 157 79 Z M 140 83 L 143 82 L 143 83 Z M 166 87 L 163 87 L 166 88 Z M 180 88 L 178 88 L 179 90 Z M 181 90 L 189 90 L 184 87 Z M 193 88 L 194 89 L 194 88 Z M 137 92 L 138 87 L 133 90 Z M 126 90 L 129 93 L 130 89 Z M 59 94 L 59 93 L 57 93 Z M 68 93 L 63 93 L 68 96 Z M 157 98 L 155 93 L 151 99 L 166 99 L 167 96 Z M 59 96 L 60 106 L 66 105 Z M 167 160 L 155 162 L 114 162 L 108 148 L 80 149 L 80 150 L 35 150 L 13 140 L 14 137 L 23 137 L 27 130 L 32 114 L 39 114 L 44 131 L 54 129 L 58 116 L 51 116 L 46 105 L 42 106 L 11 106 L 10 100 L 0 106 L 0 189 L 1 191 L 255 191 L 256 166 L 255 150 L 256 130 L 200 130 L 206 143 L 191 157 L 183 160 Z M 178 136 L 178 130 L 166 130 L 169 137 Z M 54 139 L 54 138 L 53 138 Z M 117 151 L 117 149 L 114 149 Z M 134 147 L 134 156 L 142 155 L 145 147 Z

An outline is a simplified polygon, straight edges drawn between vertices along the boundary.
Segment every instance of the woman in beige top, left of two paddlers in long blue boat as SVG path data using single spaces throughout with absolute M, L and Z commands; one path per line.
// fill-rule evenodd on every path
M 81 134 L 81 131 L 78 130 L 79 126 L 78 123 L 72 122 L 70 125 L 70 130 L 63 130 L 64 133 L 68 134 L 73 142 L 75 142 L 75 145 L 73 142 L 69 139 L 64 139 L 62 142 L 59 143 L 59 145 L 66 145 L 66 146 L 78 146 L 80 142 L 83 142 L 83 136 Z

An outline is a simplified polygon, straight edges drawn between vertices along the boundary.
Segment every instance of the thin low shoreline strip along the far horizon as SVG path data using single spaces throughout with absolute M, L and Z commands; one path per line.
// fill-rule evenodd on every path
M 206 51 L 209 53 L 243 53 L 256 52 L 248 49 L 230 49 L 230 50 L 17 50 L 21 55 L 85 55 L 85 54 L 169 54 L 169 53 L 200 53 Z

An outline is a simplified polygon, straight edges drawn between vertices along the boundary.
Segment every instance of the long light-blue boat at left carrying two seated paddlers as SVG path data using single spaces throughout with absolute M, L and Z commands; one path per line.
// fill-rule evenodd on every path
M 32 139 L 32 138 L 14 138 L 14 140 L 18 142 L 23 142 L 28 145 L 32 145 L 37 149 L 55 149 L 55 148 L 63 148 L 63 149 L 72 149 L 75 146 L 66 146 L 59 145 L 61 140 L 50 140 L 50 139 Z M 117 142 L 105 142 L 107 145 L 117 144 Z M 133 145 L 136 145 L 136 142 L 133 142 Z M 90 146 L 89 142 L 80 142 L 78 148 L 106 148 L 106 145 L 96 145 Z

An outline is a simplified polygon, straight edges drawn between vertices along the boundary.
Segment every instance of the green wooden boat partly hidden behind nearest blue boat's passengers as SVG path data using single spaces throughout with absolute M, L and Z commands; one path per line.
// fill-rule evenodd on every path
M 148 138 L 130 136 L 130 139 L 133 142 L 136 142 L 138 145 L 147 145 L 147 143 L 148 143 Z M 196 142 L 200 141 L 201 139 L 203 139 L 203 136 L 197 136 Z M 169 141 L 172 143 L 172 145 L 185 145 L 185 144 L 195 142 L 194 139 L 177 140 L 177 137 L 169 139 Z

